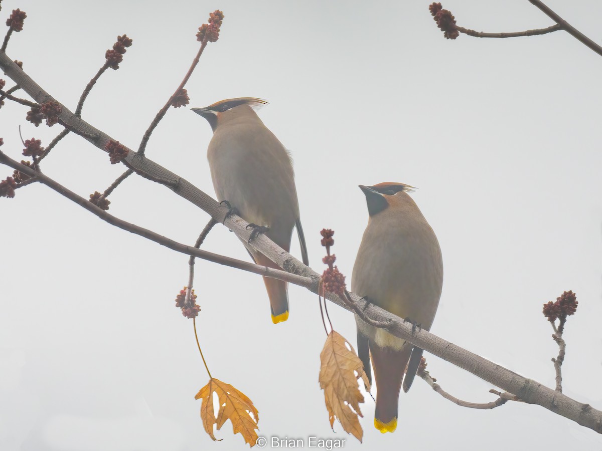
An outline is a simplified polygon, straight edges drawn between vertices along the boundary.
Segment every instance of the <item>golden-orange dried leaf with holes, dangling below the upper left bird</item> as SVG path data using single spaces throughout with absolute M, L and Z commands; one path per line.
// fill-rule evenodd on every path
M 213 393 L 219 398 L 219 411 L 217 417 L 213 410 Z M 259 412 L 253 405 L 253 402 L 241 391 L 232 387 L 230 384 L 219 379 L 209 379 L 209 383 L 199 390 L 194 399 L 200 399 L 200 418 L 203 420 L 203 428 L 209 437 L 217 439 L 213 435 L 213 425 L 217 425 L 217 430 L 224 425 L 226 420 L 232 422 L 234 434 L 240 432 L 243 435 L 245 443 L 251 447 L 255 446 L 258 435 L 255 429 L 259 430 Z

